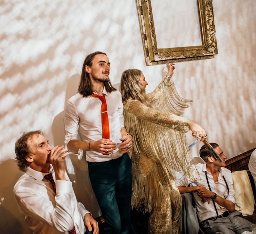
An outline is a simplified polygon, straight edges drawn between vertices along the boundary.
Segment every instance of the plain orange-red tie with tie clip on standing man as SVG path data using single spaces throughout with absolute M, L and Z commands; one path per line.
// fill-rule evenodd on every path
M 94 98 L 100 99 L 102 101 L 101 104 L 101 126 L 102 126 L 102 138 L 109 139 L 110 133 L 109 133 L 109 116 L 107 115 L 107 103 L 105 96 L 106 94 L 103 94 L 102 96 L 99 96 L 98 94 L 92 94 Z

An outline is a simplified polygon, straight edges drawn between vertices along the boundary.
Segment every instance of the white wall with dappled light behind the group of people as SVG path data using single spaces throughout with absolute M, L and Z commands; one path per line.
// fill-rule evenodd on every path
M 256 146 L 255 12 L 254 0 L 214 0 L 219 54 L 176 63 L 173 76 L 180 95 L 194 100 L 185 116 L 201 123 L 230 158 Z M 29 233 L 12 194 L 22 174 L 13 161 L 20 133 L 42 129 L 52 145 L 63 144 L 64 106 L 88 53 L 107 53 L 115 87 L 124 69 L 138 68 L 150 92 L 164 66 L 145 65 L 135 0 L 2 0 L 0 22 L 0 230 Z M 98 216 L 86 162 L 72 164 L 77 198 Z

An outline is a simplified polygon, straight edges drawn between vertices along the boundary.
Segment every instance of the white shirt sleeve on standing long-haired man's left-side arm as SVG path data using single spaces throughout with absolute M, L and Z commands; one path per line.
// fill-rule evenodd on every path
M 65 145 L 67 146 L 70 140 L 77 140 L 78 129 L 79 129 L 79 116 L 74 105 L 67 101 L 64 114 L 65 124 Z

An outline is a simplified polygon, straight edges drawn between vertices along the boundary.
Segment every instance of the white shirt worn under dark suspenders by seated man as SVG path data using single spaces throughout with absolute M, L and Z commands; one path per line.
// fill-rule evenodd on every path
M 197 186 L 201 185 L 209 190 L 206 178 L 205 178 L 205 171 L 206 171 L 206 164 L 198 163 L 195 165 L 198 169 L 199 175 L 201 178 L 198 178 L 195 181 L 192 181 L 190 178 L 182 176 L 180 179 L 176 180 L 177 186 Z M 211 187 L 212 192 L 215 192 L 217 195 L 221 196 L 222 198 L 226 198 L 228 201 L 231 201 L 235 203 L 235 191 L 233 187 L 233 180 L 232 175 L 229 169 L 225 167 L 221 167 L 219 169 L 219 176 L 218 181 L 214 182 L 213 176 L 210 172 L 206 171 L 209 184 Z M 225 177 L 225 180 L 227 181 L 228 187 L 229 187 L 229 195 L 228 195 L 228 189 L 225 184 L 225 181 L 223 179 L 223 175 Z M 212 218 L 216 216 L 216 210 L 214 208 L 214 204 L 212 199 L 210 199 L 210 204 L 208 202 L 202 203 L 201 198 L 197 195 L 197 192 L 193 192 L 193 196 L 196 202 L 196 209 L 199 220 L 202 222 L 206 219 Z M 215 202 L 216 208 L 218 210 L 218 215 L 223 214 L 227 209 L 225 209 L 223 206 L 218 205 L 217 202 Z

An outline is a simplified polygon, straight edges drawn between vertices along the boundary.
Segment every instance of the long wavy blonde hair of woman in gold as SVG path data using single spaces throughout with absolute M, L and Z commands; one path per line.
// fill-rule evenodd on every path
M 145 87 L 139 80 L 141 74 L 142 71 L 139 69 L 127 69 L 123 72 L 120 82 L 120 92 L 122 94 L 123 103 L 131 98 L 142 102 L 146 106 L 150 106 Z

